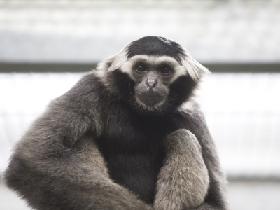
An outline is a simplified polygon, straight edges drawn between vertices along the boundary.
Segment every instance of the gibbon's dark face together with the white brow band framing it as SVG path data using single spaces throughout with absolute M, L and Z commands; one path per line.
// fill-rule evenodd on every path
M 146 109 L 157 109 L 166 103 L 169 85 L 180 76 L 179 66 L 172 57 L 135 55 L 123 69 L 134 80 L 136 102 Z

